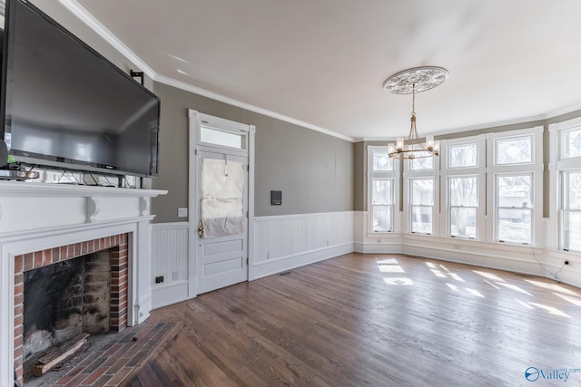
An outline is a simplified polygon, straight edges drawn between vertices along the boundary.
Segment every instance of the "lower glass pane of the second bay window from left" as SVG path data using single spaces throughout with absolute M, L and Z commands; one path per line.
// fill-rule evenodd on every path
M 412 233 L 432 234 L 434 218 L 434 178 L 409 179 Z

